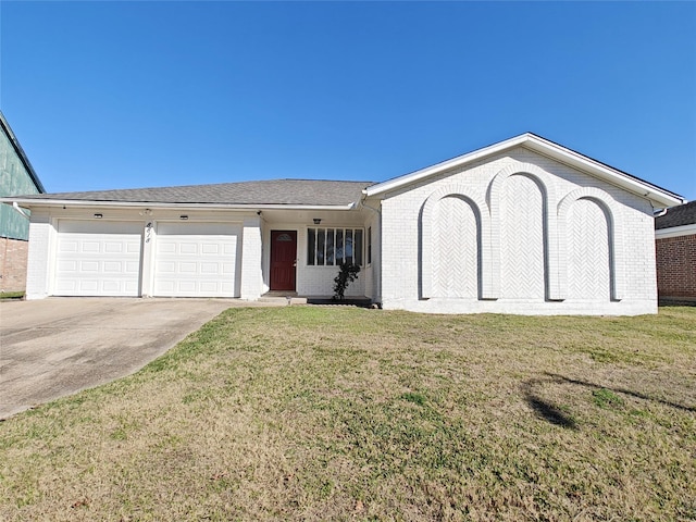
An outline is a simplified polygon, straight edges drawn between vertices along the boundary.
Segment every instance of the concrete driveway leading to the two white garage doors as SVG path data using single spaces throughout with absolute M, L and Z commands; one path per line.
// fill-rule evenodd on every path
M 0 419 L 134 373 L 233 299 L 0 301 Z

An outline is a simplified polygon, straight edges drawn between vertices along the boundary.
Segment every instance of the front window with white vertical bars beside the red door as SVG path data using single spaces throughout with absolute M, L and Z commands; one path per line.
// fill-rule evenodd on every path
M 308 228 L 307 264 L 362 265 L 362 228 Z

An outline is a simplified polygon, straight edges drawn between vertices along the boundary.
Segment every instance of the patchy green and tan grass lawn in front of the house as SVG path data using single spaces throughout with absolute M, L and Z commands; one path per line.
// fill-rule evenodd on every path
M 231 309 L 0 423 L 0 520 L 696 520 L 696 308 Z

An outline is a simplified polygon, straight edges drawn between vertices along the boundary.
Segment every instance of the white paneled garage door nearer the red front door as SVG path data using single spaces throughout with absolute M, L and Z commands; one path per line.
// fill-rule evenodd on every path
M 159 297 L 235 297 L 239 225 L 160 223 L 154 291 Z

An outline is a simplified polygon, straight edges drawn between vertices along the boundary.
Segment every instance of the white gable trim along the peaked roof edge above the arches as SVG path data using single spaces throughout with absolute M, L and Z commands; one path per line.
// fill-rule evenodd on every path
M 480 161 L 483 158 L 498 154 L 514 147 L 524 147 L 582 172 L 587 172 L 607 183 L 649 199 L 657 208 L 670 207 L 684 201 L 684 198 L 678 194 L 671 192 L 664 188 L 658 187 L 657 185 L 614 169 L 613 166 L 607 165 L 606 163 L 581 154 L 572 149 L 555 144 L 554 141 L 533 133 L 525 133 L 488 147 L 474 150 L 467 154 L 452 158 L 442 163 L 421 169 L 410 174 L 372 185 L 365 189 L 365 195 L 369 197 L 385 194 L 390 190 L 401 188 L 410 183 L 440 174 L 449 169 L 460 167 L 469 163 Z

